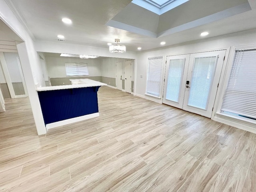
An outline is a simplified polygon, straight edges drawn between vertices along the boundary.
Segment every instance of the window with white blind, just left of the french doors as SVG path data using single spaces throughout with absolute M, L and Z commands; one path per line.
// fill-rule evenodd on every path
M 160 98 L 163 57 L 148 58 L 146 95 Z

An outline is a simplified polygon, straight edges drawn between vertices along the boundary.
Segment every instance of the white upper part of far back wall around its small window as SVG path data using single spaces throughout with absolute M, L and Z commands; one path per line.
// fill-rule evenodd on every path
M 101 59 L 80 59 L 71 57 L 46 56 L 46 66 L 50 78 L 64 78 L 66 76 L 65 62 L 87 63 L 89 76 L 102 76 Z

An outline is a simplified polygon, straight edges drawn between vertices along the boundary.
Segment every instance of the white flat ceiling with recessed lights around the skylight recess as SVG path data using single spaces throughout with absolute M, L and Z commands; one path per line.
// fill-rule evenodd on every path
M 65 36 L 67 43 L 82 44 L 107 48 L 107 43 L 114 43 L 115 38 L 120 38 L 120 43 L 126 45 L 128 51 L 138 51 L 159 48 L 160 42 L 165 41 L 165 46 L 200 40 L 200 33 L 208 31 L 207 38 L 230 34 L 256 28 L 256 5 L 255 0 L 248 0 L 253 10 L 246 11 L 235 16 L 230 16 L 218 21 L 203 24 L 190 29 L 181 30 L 167 36 L 152 38 L 127 30 L 106 26 L 106 23 L 125 9 L 131 0 L 7 0 L 12 1 L 18 14 L 22 16 L 25 25 L 36 40 L 57 41 L 57 35 Z M 192 0 L 190 0 L 192 1 Z M 188 1 L 188 2 L 190 2 Z M 218 6 L 219 0 L 204 0 L 213 6 Z M 202 2 L 200 1 L 202 4 Z M 205 11 L 204 5 L 201 5 Z M 208 7 L 211 9 L 211 7 Z M 219 7 L 221 9 L 221 7 Z M 191 7 L 191 10 L 194 8 Z M 172 10 L 170 11 L 172 12 Z M 198 11 L 197 11 L 198 12 Z M 168 13 L 168 12 L 167 12 Z M 166 14 L 167 14 L 166 13 Z M 135 14 L 133 12 L 130 13 Z M 136 13 L 138 14 L 138 13 Z M 197 13 L 194 13 L 195 16 Z M 162 15 L 163 16 L 163 15 Z M 175 16 L 186 16 L 186 13 Z M 72 20 L 72 25 L 67 26 L 61 19 L 67 17 Z M 139 14 L 140 20 L 144 15 Z M 178 18 L 175 18 L 177 23 Z M 152 19 L 157 20 L 152 16 Z M 134 18 L 136 20 L 136 17 Z M 173 24 L 174 21 L 172 21 Z M 168 17 L 164 19 L 167 25 Z M 164 23 L 161 28 L 164 28 Z M 147 23 L 145 27 L 152 28 L 155 23 Z M 62 43 L 62 42 L 60 42 Z

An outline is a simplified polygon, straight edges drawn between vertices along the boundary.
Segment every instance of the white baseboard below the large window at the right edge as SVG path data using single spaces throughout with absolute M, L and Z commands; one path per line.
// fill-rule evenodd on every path
M 217 116 L 216 116 L 217 115 Z M 238 120 L 233 117 L 224 116 L 223 114 L 216 114 L 212 120 L 224 123 L 245 131 L 256 133 L 256 128 L 253 128 L 251 123 L 246 123 L 244 120 Z M 219 116 L 220 115 L 220 116 Z

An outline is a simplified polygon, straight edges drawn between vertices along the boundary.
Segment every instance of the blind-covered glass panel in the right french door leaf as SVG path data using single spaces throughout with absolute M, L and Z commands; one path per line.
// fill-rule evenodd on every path
M 207 109 L 215 64 L 216 56 L 195 59 L 188 98 L 189 106 Z

